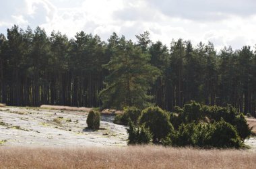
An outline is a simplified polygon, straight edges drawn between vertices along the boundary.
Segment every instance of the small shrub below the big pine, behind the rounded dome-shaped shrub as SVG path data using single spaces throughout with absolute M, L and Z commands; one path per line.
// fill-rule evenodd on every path
M 137 125 L 140 115 L 141 110 L 137 109 L 137 107 L 125 107 L 123 114 L 116 115 L 114 123 L 128 125 L 129 120 L 131 120 L 135 125 Z

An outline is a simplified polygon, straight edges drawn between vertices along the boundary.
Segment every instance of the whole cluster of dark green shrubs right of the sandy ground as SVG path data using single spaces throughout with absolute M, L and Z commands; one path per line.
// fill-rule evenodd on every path
M 137 114 L 140 116 L 133 119 L 137 128 L 132 123 L 127 129 L 129 144 L 146 144 L 141 140 L 149 142 L 152 135 L 154 144 L 166 146 L 240 148 L 251 135 L 245 116 L 230 105 L 206 106 L 191 101 L 183 108 L 175 107 L 173 113 L 148 107 Z

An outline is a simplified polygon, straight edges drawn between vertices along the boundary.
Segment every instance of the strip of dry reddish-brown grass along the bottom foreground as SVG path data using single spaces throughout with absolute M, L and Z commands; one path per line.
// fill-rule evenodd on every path
M 255 159 L 246 150 L 0 147 L 0 168 L 255 168 Z

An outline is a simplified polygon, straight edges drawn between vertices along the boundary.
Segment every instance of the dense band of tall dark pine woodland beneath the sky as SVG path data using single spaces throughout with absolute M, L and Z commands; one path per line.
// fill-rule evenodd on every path
M 148 32 L 136 38 L 113 33 L 104 42 L 82 31 L 69 39 L 14 25 L 0 34 L 0 103 L 123 107 L 140 98 L 172 111 L 195 100 L 256 115 L 254 48 L 217 53 L 211 42 L 166 46 L 151 42 Z

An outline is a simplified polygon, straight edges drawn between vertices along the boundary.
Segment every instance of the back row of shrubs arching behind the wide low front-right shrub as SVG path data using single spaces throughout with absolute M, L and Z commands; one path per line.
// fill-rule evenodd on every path
M 245 116 L 242 113 L 238 113 L 231 105 L 228 105 L 228 107 L 207 106 L 199 105 L 199 103 L 192 101 L 189 104 L 185 104 L 183 109 L 180 108 L 179 112 L 183 113 L 171 113 L 170 115 L 170 122 L 175 129 L 178 129 L 182 123 L 191 123 L 191 121 L 214 123 L 224 119 L 224 121 L 235 127 L 242 140 L 251 135 L 251 129 L 247 125 Z

